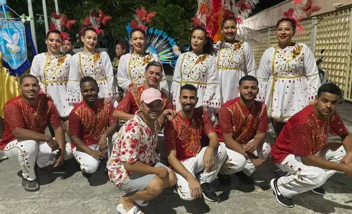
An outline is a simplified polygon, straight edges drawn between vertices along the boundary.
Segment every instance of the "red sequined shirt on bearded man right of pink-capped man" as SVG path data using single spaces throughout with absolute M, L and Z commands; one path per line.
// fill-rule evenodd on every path
M 166 149 L 176 149 L 177 159 L 183 161 L 195 157 L 201 149 L 202 132 L 208 135 L 214 133 L 214 127 L 208 112 L 195 108 L 193 117 L 186 119 L 177 113 L 175 119 L 167 121 L 164 128 Z M 200 118 L 199 118 L 200 117 Z M 197 121 L 199 126 L 196 128 Z

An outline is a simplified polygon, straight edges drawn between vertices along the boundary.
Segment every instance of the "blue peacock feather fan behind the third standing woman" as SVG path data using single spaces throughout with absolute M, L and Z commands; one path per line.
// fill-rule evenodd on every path
M 128 35 L 132 31 L 130 24 L 126 26 Z M 169 64 L 175 67 L 178 55 L 173 51 L 173 47 L 177 46 L 175 39 L 169 37 L 163 30 L 149 28 L 146 30 L 146 52 L 156 54 L 162 64 Z M 128 37 L 125 37 L 126 41 L 129 41 Z M 128 43 L 130 46 L 130 43 Z M 131 47 L 130 47 L 131 49 Z

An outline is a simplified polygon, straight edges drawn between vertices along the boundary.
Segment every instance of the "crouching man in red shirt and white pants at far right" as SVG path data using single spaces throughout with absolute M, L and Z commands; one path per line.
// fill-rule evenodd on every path
M 352 137 L 335 111 L 341 96 L 335 84 L 320 86 L 316 103 L 293 115 L 277 137 L 271 157 L 288 172 L 271 180 L 279 204 L 293 207 L 291 197 L 306 191 L 324 195 L 322 185 L 336 171 L 352 177 Z M 342 144 L 326 143 L 329 134 Z

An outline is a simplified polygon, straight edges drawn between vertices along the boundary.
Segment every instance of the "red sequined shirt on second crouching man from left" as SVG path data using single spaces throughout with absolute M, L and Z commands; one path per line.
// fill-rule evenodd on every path
M 68 135 L 76 135 L 87 146 L 97 144 L 109 123 L 117 121 L 113 117 L 113 104 L 104 104 L 104 99 L 99 99 L 96 108 L 90 108 L 86 101 L 72 109 L 68 120 Z M 74 144 L 71 144 L 75 148 Z

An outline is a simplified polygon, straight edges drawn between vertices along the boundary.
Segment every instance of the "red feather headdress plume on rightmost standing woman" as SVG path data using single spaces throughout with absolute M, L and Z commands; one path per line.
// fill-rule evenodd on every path
M 300 23 L 301 19 L 310 17 L 313 12 L 317 12 L 322 8 L 320 6 L 313 6 L 313 0 L 293 0 L 292 8 L 284 12 L 284 17 L 293 19 L 297 26 L 297 33 L 303 32 L 304 28 Z

